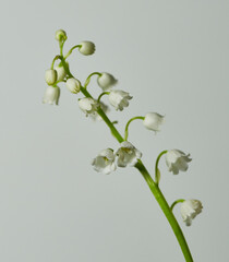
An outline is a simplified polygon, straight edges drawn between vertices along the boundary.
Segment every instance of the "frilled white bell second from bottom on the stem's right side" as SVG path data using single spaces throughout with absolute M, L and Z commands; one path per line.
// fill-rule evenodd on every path
M 182 151 L 170 150 L 166 153 L 166 164 L 169 168 L 169 171 L 172 171 L 173 175 L 178 175 L 180 171 L 186 171 L 191 162 L 190 154 L 185 155 Z

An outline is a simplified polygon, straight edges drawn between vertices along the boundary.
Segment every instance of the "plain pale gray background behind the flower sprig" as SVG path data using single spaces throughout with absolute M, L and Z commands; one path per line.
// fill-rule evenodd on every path
M 133 95 L 110 115 L 121 131 L 135 115 L 166 115 L 160 133 L 138 121 L 130 140 L 149 170 L 165 148 L 192 154 L 179 176 L 161 162 L 161 190 L 170 203 L 203 201 L 190 228 L 174 210 L 194 261 L 229 261 L 228 12 L 222 0 L 1 1 L 0 261 L 184 261 L 141 175 L 91 167 L 118 143 L 79 110 L 82 96 L 62 86 L 59 107 L 41 104 L 58 28 L 68 32 L 68 49 L 96 43 L 93 57 L 73 53 L 75 76 L 108 71 Z M 89 91 L 98 94 L 95 80 Z

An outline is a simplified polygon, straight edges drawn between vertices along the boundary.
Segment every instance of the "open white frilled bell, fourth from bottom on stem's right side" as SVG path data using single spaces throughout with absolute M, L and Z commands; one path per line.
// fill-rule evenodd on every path
M 110 92 L 108 99 L 116 110 L 122 111 L 124 107 L 129 106 L 129 100 L 132 99 L 132 96 L 128 92 L 116 90 Z

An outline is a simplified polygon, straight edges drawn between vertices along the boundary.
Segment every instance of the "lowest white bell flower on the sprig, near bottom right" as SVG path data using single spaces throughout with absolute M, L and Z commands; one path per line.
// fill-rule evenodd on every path
M 202 212 L 203 205 L 198 200 L 185 200 L 181 203 L 180 212 L 186 226 L 191 226 L 192 219 Z

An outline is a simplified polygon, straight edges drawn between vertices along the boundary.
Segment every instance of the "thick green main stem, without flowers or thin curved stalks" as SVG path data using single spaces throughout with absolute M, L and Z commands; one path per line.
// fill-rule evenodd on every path
M 64 70 L 65 72 L 69 74 L 69 76 L 74 78 L 70 70 L 69 67 L 65 63 L 64 58 L 61 56 L 60 57 Z M 87 90 L 85 87 L 81 87 L 81 92 L 86 96 L 86 97 L 91 97 L 93 98 L 93 96 L 87 92 Z M 103 109 L 98 109 L 97 110 L 98 115 L 104 119 L 104 121 L 106 122 L 106 124 L 109 127 L 112 135 L 118 140 L 119 143 L 123 142 L 123 138 L 122 135 L 119 133 L 119 131 L 116 129 L 116 127 L 113 126 L 113 123 L 110 121 L 110 119 L 107 117 L 107 115 L 104 112 Z M 138 169 L 138 171 L 142 174 L 142 176 L 144 177 L 145 181 L 147 182 L 152 193 L 154 194 L 156 201 L 158 202 L 160 209 L 162 210 L 164 214 L 166 215 L 177 239 L 178 242 L 181 247 L 181 250 L 183 252 L 183 255 L 185 258 L 186 262 L 193 262 L 192 259 L 192 254 L 190 252 L 189 246 L 186 243 L 186 240 L 183 236 L 183 233 L 173 215 L 173 213 L 171 212 L 162 192 L 160 191 L 160 189 L 158 188 L 158 186 L 155 183 L 155 181 L 153 180 L 153 178 L 150 177 L 150 175 L 148 174 L 147 169 L 145 168 L 145 166 L 143 165 L 142 160 L 138 159 L 138 163 L 135 165 L 135 168 Z

